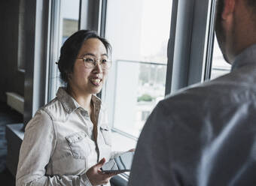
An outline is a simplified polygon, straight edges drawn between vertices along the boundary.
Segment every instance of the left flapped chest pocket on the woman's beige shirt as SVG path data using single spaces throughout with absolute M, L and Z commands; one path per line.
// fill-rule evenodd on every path
M 77 159 L 86 159 L 91 152 L 90 141 L 84 132 L 72 133 L 66 136 L 73 157 Z

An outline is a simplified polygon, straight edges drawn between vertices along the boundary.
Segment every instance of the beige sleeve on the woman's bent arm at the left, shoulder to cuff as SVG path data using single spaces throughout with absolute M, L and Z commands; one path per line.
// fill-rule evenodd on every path
M 16 185 L 86 185 L 90 181 L 83 175 L 46 175 L 46 166 L 56 146 L 53 121 L 44 110 L 39 110 L 26 126 L 20 148 Z

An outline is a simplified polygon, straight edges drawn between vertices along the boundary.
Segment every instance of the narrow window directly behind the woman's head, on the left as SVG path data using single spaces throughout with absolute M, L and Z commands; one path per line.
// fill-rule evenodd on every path
M 52 33 L 51 43 L 51 66 L 50 66 L 50 89 L 48 101 L 56 96 L 59 86 L 62 82 L 59 79 L 59 70 L 55 62 L 59 59 L 60 48 L 66 39 L 78 31 L 79 20 L 79 5 L 80 0 L 62 0 L 53 1 L 53 20 L 52 20 Z

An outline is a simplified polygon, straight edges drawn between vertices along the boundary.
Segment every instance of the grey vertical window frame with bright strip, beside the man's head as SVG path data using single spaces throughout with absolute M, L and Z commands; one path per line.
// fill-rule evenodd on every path
M 215 0 L 195 0 L 187 86 L 202 83 L 205 80 L 206 67 L 209 68 L 212 63 L 209 60 L 212 60 L 214 18 Z

